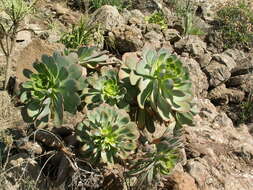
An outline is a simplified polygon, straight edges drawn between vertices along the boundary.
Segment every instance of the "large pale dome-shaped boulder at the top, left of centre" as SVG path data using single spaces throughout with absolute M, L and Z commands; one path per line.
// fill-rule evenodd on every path
M 116 7 L 104 5 L 92 14 L 89 23 L 100 24 L 103 29 L 111 31 L 112 28 L 125 24 L 125 21 Z

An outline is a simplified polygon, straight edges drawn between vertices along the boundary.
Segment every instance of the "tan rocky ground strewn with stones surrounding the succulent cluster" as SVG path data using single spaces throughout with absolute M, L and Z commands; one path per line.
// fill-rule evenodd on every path
M 215 9 L 225 1 L 198 2 L 198 25 L 208 32 L 212 30 Z M 122 12 L 104 6 L 90 16 L 90 22 L 100 24 L 105 29 L 104 35 L 113 39 L 113 47 L 108 49 L 115 60 L 126 52 L 138 52 L 149 46 L 168 48 L 178 55 L 189 68 L 200 110 L 195 116 L 195 126 L 184 128 L 184 160 L 164 180 L 161 189 L 252 190 L 253 115 L 241 122 L 239 105 L 253 92 L 253 51 L 224 50 L 222 44 L 217 44 L 208 35 L 181 36 L 180 27 L 166 1 L 136 0 L 135 3 L 137 9 Z M 25 23 L 35 33 L 25 31 L 19 34 L 20 42 L 12 57 L 13 75 L 18 83 L 26 80 L 23 69 L 31 68 L 33 61 L 42 54 L 64 49 L 57 43 L 60 32 L 80 18 L 80 12 L 67 7 L 64 1 L 47 0 L 37 7 L 38 15 L 27 18 Z M 157 24 L 145 22 L 145 16 L 157 9 L 166 12 L 171 27 L 163 30 Z M 102 43 L 101 48 L 110 46 L 110 40 Z M 1 54 L 0 63 L 4 63 Z M 10 103 L 8 95 L 0 93 L 0 106 L 5 106 L 1 123 L 14 128 L 25 126 L 17 114 L 18 108 Z M 17 158 L 11 160 L 15 165 Z

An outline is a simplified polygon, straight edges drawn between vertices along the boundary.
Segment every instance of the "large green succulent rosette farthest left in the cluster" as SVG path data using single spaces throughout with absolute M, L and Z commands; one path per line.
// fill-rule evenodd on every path
M 33 64 L 36 70 L 24 70 L 29 79 L 22 84 L 21 102 L 25 104 L 23 117 L 30 121 L 48 121 L 54 119 L 62 123 L 63 111 L 75 113 L 80 104 L 77 93 L 81 88 L 81 67 L 74 64 L 71 56 L 43 55 L 41 62 Z

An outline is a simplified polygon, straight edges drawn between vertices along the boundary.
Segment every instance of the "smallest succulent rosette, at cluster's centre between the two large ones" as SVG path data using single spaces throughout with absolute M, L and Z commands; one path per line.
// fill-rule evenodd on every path
M 85 88 L 82 95 L 88 109 L 101 103 L 126 108 L 127 104 L 124 101 L 124 97 L 127 90 L 119 80 L 117 69 L 103 67 L 101 68 L 101 76 L 96 72 L 88 77 L 87 83 L 90 88 Z

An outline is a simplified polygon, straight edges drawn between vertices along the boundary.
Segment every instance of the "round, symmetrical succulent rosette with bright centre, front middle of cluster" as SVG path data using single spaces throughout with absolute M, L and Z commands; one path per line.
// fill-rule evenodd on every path
M 108 104 L 88 111 L 87 119 L 77 126 L 76 135 L 85 157 L 108 164 L 127 158 L 136 149 L 139 137 L 129 115 Z

